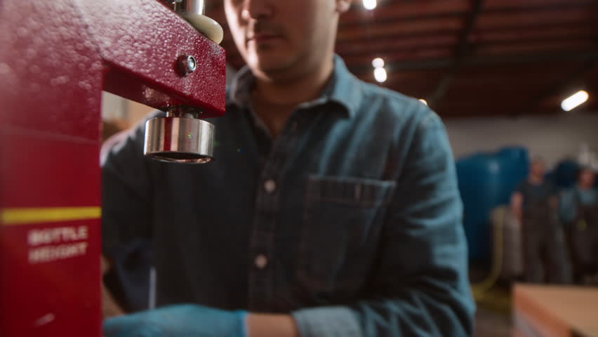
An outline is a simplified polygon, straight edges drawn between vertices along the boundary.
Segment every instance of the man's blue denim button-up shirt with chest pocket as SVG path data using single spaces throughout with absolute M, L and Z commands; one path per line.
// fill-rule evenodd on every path
M 455 164 L 437 114 L 335 56 L 275 140 L 241 70 L 215 161 L 102 156 L 104 247 L 152 240 L 157 303 L 293 315 L 300 336 L 467 336 L 474 305 Z M 153 117 L 159 113 L 152 114 Z

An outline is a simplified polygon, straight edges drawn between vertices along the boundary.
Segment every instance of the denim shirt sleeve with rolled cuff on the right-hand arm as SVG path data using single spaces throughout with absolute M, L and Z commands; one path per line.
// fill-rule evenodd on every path
M 294 312 L 300 336 L 471 335 L 463 206 L 436 114 L 416 129 L 397 187 L 365 299 Z

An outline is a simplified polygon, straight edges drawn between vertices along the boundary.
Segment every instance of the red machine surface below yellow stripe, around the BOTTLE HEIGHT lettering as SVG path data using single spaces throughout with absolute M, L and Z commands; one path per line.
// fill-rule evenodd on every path
M 29 230 L 81 225 L 86 255 L 29 264 Z M 100 220 L 8 226 L 2 236 L 1 336 L 100 336 Z

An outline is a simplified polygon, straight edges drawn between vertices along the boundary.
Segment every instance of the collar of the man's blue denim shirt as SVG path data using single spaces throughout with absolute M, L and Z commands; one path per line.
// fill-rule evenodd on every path
M 249 67 L 242 67 L 234 74 L 230 85 L 230 101 L 238 107 L 248 107 L 251 104 L 251 91 L 255 78 Z M 331 78 L 324 87 L 319 98 L 303 103 L 302 107 L 311 107 L 333 102 L 345 109 L 348 117 L 354 117 L 361 101 L 361 86 L 359 79 L 347 70 L 343 59 L 334 55 L 334 69 Z

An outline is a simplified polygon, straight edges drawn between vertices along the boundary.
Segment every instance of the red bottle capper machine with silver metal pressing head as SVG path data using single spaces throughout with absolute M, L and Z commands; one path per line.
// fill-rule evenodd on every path
M 102 90 L 166 112 L 147 156 L 210 161 L 225 52 L 204 6 L 0 0 L 0 336 L 101 336 Z

